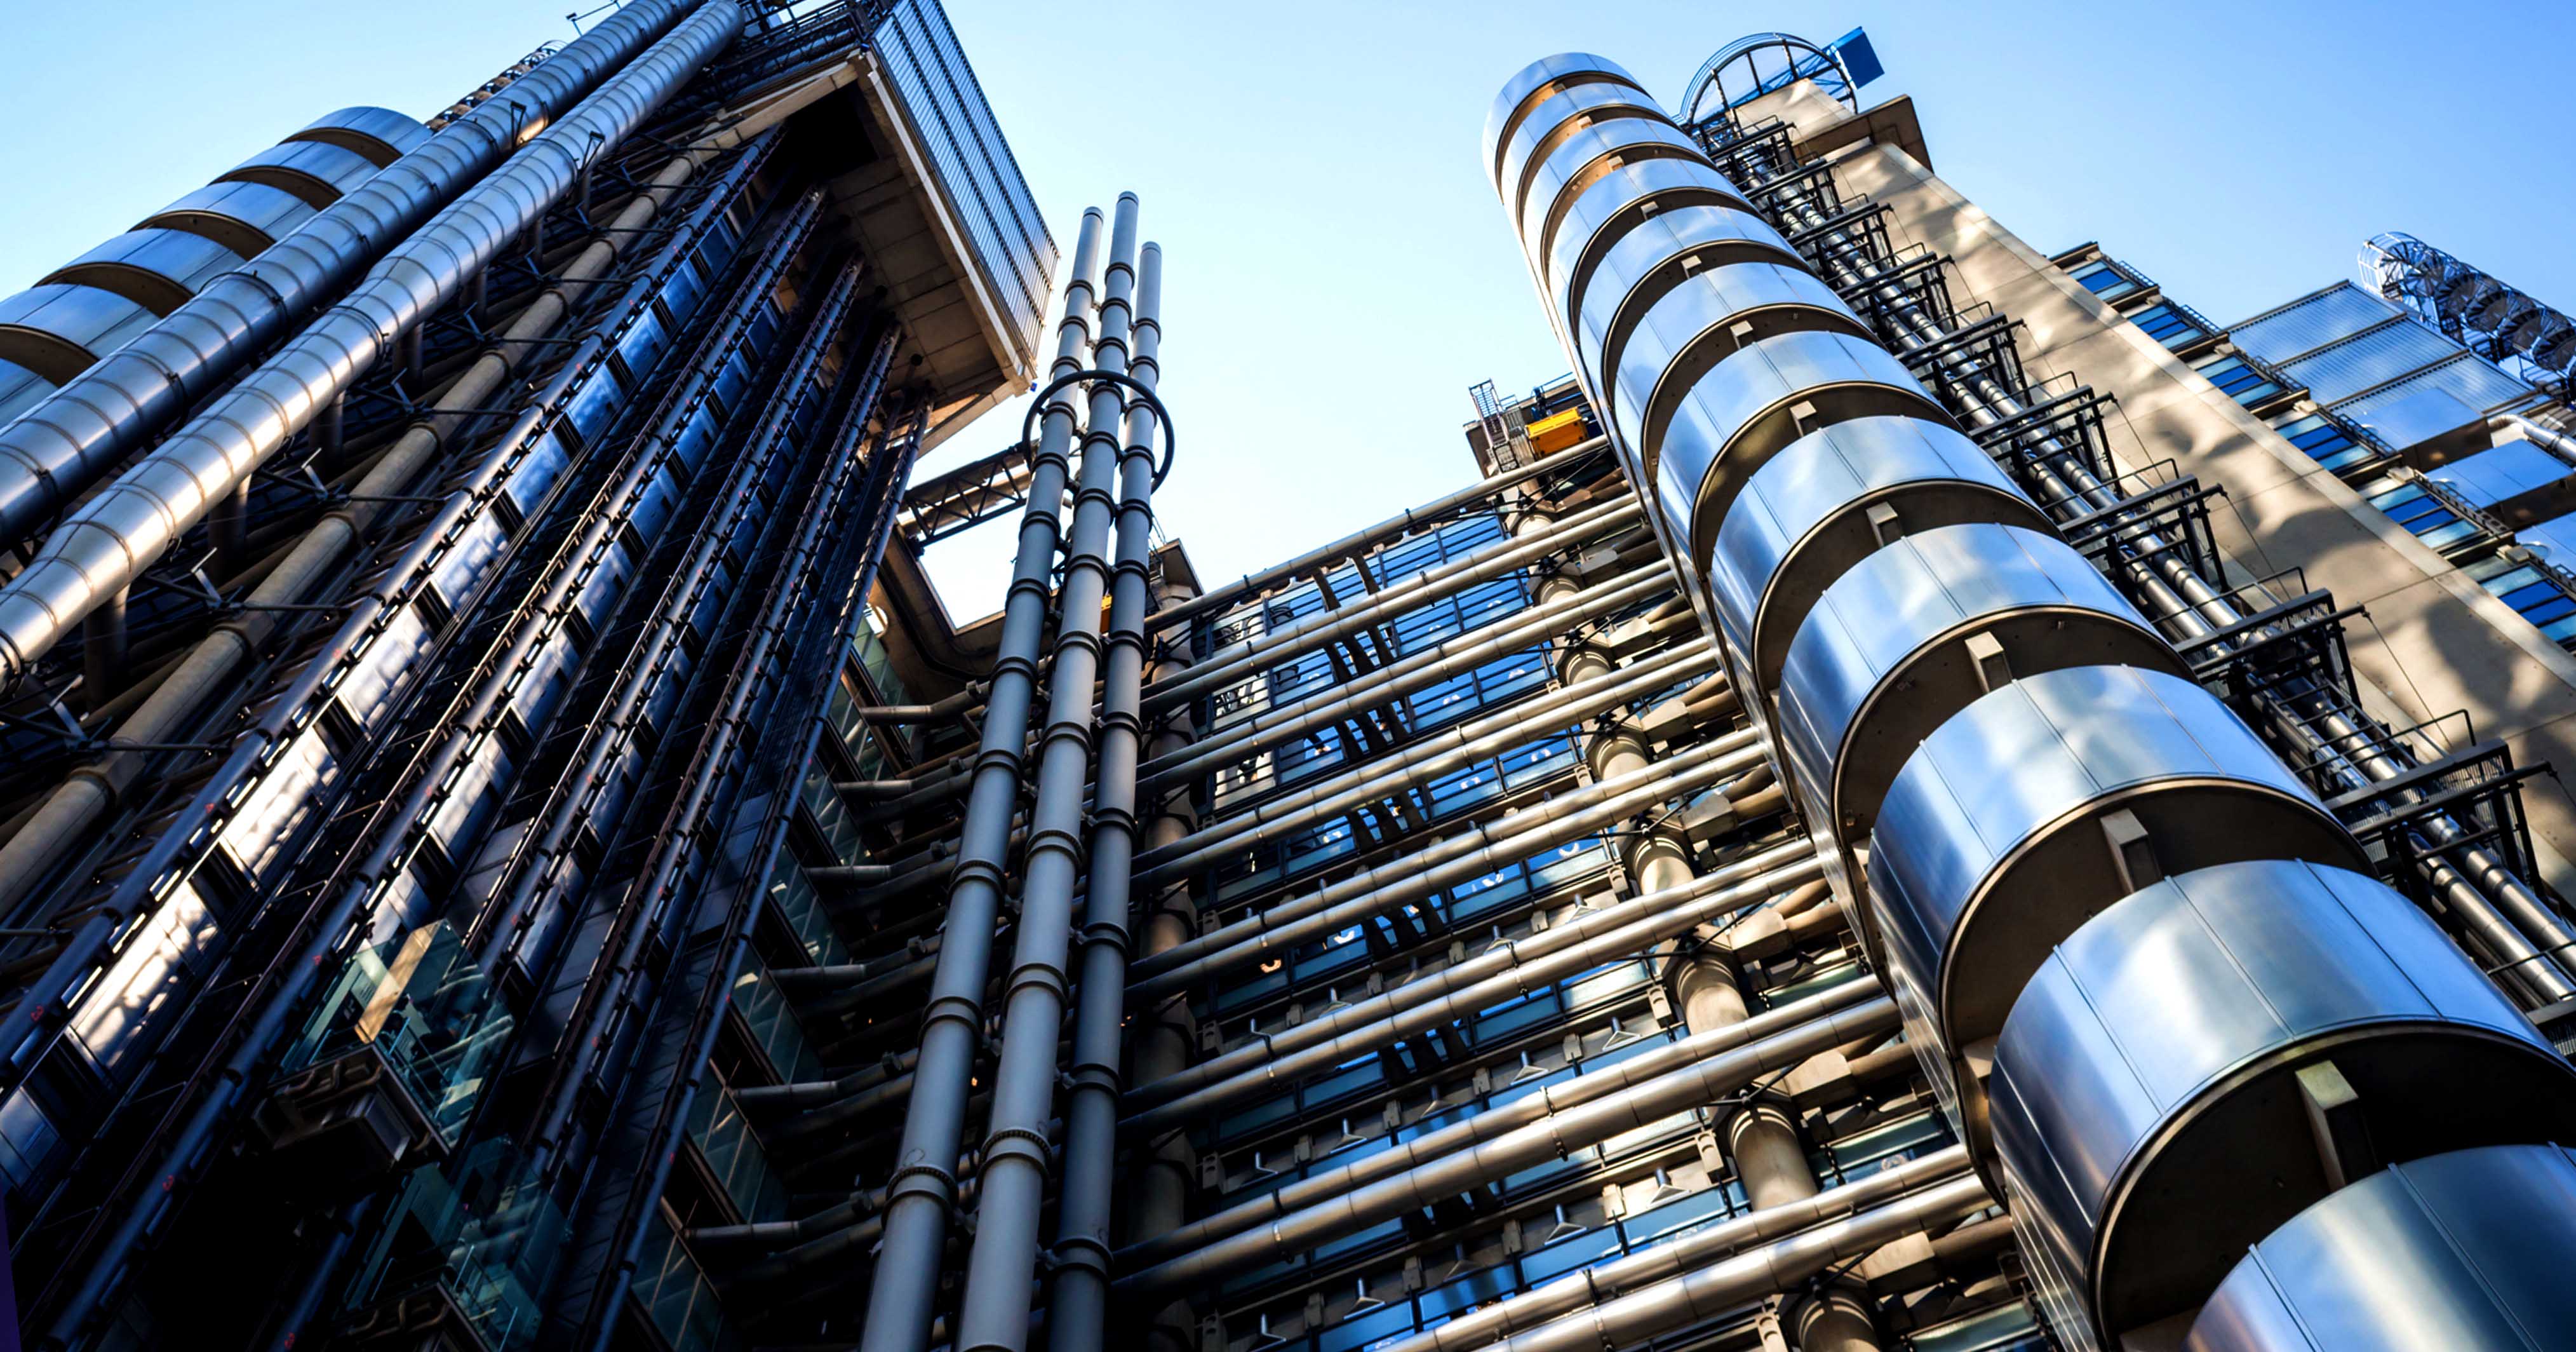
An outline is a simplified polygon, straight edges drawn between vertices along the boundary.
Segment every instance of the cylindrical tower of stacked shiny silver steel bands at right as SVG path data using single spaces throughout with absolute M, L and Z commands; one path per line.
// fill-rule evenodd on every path
M 1883 961 L 1904 1043 L 1978 1169 L 2009 1185 L 2066 1344 L 2125 1347 L 2148 1324 L 2154 1347 L 2177 1344 L 2246 1244 L 2383 1161 L 2576 1131 L 2576 1071 L 2365 876 L 2326 803 L 1878 343 L 1844 301 L 1873 273 L 1837 263 L 1837 286 L 1819 281 L 1600 57 L 1515 75 L 1484 162 L 1574 376 Z M 1829 219 L 1798 224 L 1811 247 L 1850 245 Z M 1909 345 L 1942 337 L 1899 319 Z M 1865 873 L 1842 852 L 1862 834 Z M 2576 1164 L 2548 1167 L 2545 1185 L 2476 1192 L 2548 1187 L 2532 1234 L 2576 1236 Z M 2409 1241 L 2401 1221 L 2372 1223 Z M 2195 1334 L 2205 1352 L 2455 1344 L 2447 1329 L 2280 1334 L 2282 1311 L 2349 1308 L 2344 1290 L 2403 1329 L 2486 1298 L 2460 1267 L 2478 1259 L 2393 1272 L 2375 1246 L 2326 1272 L 2316 1254 L 2349 1234 L 2365 1231 L 2342 1213 L 2293 1223 L 2285 1262 L 2306 1249 L 2287 1275 L 2246 1259 L 2228 1282 L 2241 1295 L 2213 1311 L 2267 1300 L 2267 1324 Z

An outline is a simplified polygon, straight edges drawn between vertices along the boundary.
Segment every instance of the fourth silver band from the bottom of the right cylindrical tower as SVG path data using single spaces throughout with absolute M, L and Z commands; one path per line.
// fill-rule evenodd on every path
M 1790 641 L 1780 747 L 1816 793 L 1814 816 L 1855 842 L 1932 729 L 2014 677 L 2063 667 L 2190 677 L 2053 530 L 1963 523 L 1901 536 L 1834 579 Z

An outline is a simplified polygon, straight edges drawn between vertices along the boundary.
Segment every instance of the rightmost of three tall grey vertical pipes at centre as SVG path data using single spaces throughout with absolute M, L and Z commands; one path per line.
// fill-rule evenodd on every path
M 1126 203 L 1121 203 L 1126 206 Z M 1162 247 L 1144 245 L 1136 283 L 1136 355 L 1128 373 L 1162 373 Z M 1092 870 L 1084 886 L 1082 984 L 1074 1012 L 1072 1089 L 1064 1100 L 1064 1197 L 1056 1280 L 1046 1306 L 1048 1352 L 1103 1347 L 1110 1300 L 1110 1192 L 1118 1164 L 1118 1035 L 1126 1025 L 1128 883 L 1136 858 L 1136 762 L 1144 734 L 1144 623 L 1154 556 L 1154 409 L 1128 404 L 1118 456 L 1118 564 L 1110 579 L 1108 664 L 1100 682 L 1100 767 L 1092 796 Z M 971 1300 L 971 1293 L 969 1293 Z

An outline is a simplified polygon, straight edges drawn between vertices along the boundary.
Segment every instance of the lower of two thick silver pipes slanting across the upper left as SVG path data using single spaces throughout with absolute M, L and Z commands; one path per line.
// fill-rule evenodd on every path
M 636 23 L 647 23 L 649 13 L 649 5 L 639 5 L 616 21 L 636 15 Z M 8 590 L 0 590 L 0 682 L 15 685 L 28 662 L 54 646 L 82 615 L 116 597 L 214 502 L 224 500 L 286 446 L 286 438 L 374 366 L 394 335 L 420 324 L 461 294 L 466 281 L 510 237 L 528 229 L 549 203 L 572 191 L 603 144 L 621 142 L 737 31 L 739 10 L 729 0 L 703 5 L 580 108 L 526 139 L 507 165 L 389 250 L 322 319 L 72 512 L 44 541 L 26 572 Z M 435 152 L 448 139 L 464 139 L 459 134 L 484 113 L 510 108 L 520 90 L 544 82 L 556 64 L 562 59 L 546 62 L 536 75 L 477 108 L 474 116 L 440 134 L 430 149 Z M 515 121 L 536 113 L 505 116 Z M 518 131 L 513 139 L 520 139 Z M 386 178 L 392 175 L 394 170 L 386 170 Z M 435 193 L 415 175 L 410 196 L 428 201 Z M 350 203 L 355 201 L 353 196 Z M 353 242 L 350 250 L 355 250 Z M 36 409 L 28 422 L 44 417 L 46 412 Z M 15 430 L 10 427 L 10 433 Z M 70 446 L 59 440 L 54 448 Z M 0 502 L 10 500 L 0 497 Z

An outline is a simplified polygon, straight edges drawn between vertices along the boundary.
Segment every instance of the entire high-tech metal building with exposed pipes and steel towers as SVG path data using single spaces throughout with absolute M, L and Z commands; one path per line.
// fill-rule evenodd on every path
M 1875 75 L 1515 75 L 1571 376 L 1239 579 L 930 0 L 634 0 L 0 301 L 21 1342 L 2576 1347 L 2576 324 L 2213 324 Z

